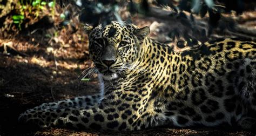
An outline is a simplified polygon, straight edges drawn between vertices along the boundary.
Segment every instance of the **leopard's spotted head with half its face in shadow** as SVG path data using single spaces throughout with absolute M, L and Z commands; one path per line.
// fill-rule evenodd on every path
M 112 22 L 99 25 L 89 35 L 90 58 L 105 80 L 123 77 L 140 55 L 141 43 L 149 28 Z

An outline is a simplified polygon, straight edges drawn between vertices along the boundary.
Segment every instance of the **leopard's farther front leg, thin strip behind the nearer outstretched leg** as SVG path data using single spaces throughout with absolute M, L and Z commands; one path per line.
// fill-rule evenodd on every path
M 66 107 L 85 107 L 85 106 L 93 106 L 98 104 L 102 96 L 100 94 L 93 94 L 91 96 L 82 96 L 76 97 L 72 99 L 60 100 L 56 103 L 44 103 L 35 107 L 35 110 L 38 109 L 58 109 L 58 108 L 66 108 Z

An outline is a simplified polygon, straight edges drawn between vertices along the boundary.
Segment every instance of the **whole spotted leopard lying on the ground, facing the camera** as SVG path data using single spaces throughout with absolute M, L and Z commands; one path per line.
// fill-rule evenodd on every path
M 220 38 L 177 52 L 151 39 L 148 26 L 113 21 L 85 31 L 100 93 L 42 104 L 19 123 L 106 131 L 255 125 L 255 42 Z

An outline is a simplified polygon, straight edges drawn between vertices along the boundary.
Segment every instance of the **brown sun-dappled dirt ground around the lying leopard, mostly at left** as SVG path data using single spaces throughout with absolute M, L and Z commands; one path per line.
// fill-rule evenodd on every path
M 57 15 L 56 15 L 57 16 Z M 46 17 L 47 19 L 47 17 Z M 38 23 L 39 22 L 39 23 Z M 90 81 L 81 81 L 82 72 L 92 65 L 89 60 L 87 35 L 75 26 L 58 28 L 60 21 L 46 28 L 40 21 L 14 35 L 0 38 L 0 135 L 46 134 L 153 134 L 153 135 L 255 135 L 256 132 L 219 128 L 154 128 L 133 132 L 78 131 L 64 128 L 33 130 L 19 126 L 18 115 L 42 103 L 84 96 L 98 91 L 96 75 Z M 156 23 L 157 22 L 157 23 Z M 139 26 L 151 25 L 151 37 L 167 32 L 164 21 L 154 18 L 137 18 Z M 45 23 L 45 22 L 43 22 Z M 166 22 L 164 22 L 166 23 Z M 154 24 L 154 25 L 152 25 Z M 251 25 L 251 24 L 250 24 Z M 163 26 L 156 29 L 158 26 Z M 252 25 L 255 27 L 254 25 Z M 51 34 L 48 36 L 48 34 Z

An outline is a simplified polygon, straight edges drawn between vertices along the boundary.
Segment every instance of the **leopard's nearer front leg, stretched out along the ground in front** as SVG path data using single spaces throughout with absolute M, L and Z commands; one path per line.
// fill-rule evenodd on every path
M 124 96 L 129 94 L 122 94 L 120 97 L 125 98 Z M 28 110 L 21 114 L 19 121 L 39 127 L 56 126 L 94 130 L 124 131 L 145 127 L 145 120 L 142 120 L 143 111 L 145 111 L 142 98 L 125 99 L 136 102 L 127 103 L 122 99 L 106 102 L 105 99 L 95 106 Z

